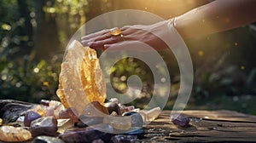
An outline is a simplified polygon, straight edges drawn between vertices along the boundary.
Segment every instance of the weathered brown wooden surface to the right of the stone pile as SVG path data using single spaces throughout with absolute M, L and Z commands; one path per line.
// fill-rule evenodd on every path
M 189 127 L 170 122 L 164 111 L 146 129 L 142 142 L 256 142 L 256 116 L 230 111 L 183 111 Z

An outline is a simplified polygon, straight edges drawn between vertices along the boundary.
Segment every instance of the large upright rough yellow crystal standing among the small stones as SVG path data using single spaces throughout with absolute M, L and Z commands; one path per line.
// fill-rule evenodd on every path
M 106 99 L 106 83 L 95 49 L 83 47 L 76 40 L 69 45 L 61 64 L 59 89 L 56 94 L 66 108 L 74 107 L 79 114 L 92 101 L 103 105 Z

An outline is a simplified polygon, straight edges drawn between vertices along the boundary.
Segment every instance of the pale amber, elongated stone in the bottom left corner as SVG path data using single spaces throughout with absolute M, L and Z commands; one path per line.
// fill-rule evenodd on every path
M 9 142 L 23 142 L 32 138 L 32 134 L 28 130 L 13 126 L 0 127 L 0 134 L 0 140 Z

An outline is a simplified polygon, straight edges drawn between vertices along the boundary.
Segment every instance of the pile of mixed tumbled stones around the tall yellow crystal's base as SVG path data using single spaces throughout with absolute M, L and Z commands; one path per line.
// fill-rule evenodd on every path
M 143 139 L 143 125 L 160 114 L 156 107 L 147 112 L 124 106 L 118 100 L 104 105 L 97 101 L 78 115 L 56 100 L 30 104 L 0 100 L 0 140 L 4 142 L 136 142 Z M 104 115 L 104 116 L 102 116 Z

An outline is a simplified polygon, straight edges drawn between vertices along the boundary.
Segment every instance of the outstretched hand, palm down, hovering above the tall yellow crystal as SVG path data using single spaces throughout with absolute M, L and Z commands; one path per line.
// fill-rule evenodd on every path
M 113 36 L 109 33 L 109 29 L 98 31 L 90 35 L 82 37 L 81 43 L 84 46 L 89 46 L 93 49 L 122 49 L 124 45 L 128 43 L 146 43 L 151 48 L 156 50 L 168 49 L 167 44 L 163 41 L 161 37 L 170 37 L 170 32 L 172 31 L 170 26 L 172 26 L 171 20 L 164 20 L 153 25 L 141 26 L 124 26 L 120 28 L 121 34 L 118 36 Z M 134 47 L 133 47 L 134 48 Z M 138 49 L 137 50 L 145 50 Z

